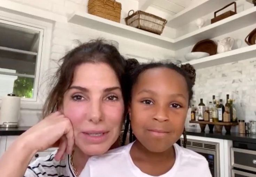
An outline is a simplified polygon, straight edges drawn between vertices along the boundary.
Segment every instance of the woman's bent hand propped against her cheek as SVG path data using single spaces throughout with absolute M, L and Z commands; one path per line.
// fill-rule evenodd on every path
M 59 149 L 55 155 L 57 161 L 71 154 L 74 144 L 73 127 L 70 120 L 57 111 L 41 120 L 38 124 L 23 133 L 17 144 L 26 143 L 31 152 L 44 151 L 58 144 Z

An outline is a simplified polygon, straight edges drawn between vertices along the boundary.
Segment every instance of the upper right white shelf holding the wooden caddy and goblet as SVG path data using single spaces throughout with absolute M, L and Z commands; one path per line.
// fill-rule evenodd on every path
M 220 20 L 211 25 L 202 27 L 191 33 L 180 36 L 174 40 L 174 49 L 181 49 L 204 39 L 230 33 L 240 28 L 253 25 L 256 23 L 256 7 L 244 10 L 231 17 Z M 246 37 L 246 36 L 245 36 Z

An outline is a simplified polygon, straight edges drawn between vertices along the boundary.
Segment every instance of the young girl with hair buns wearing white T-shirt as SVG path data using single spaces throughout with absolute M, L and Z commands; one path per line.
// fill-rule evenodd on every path
M 193 84 L 185 69 L 173 64 L 135 68 L 129 116 L 137 140 L 91 157 L 80 176 L 211 177 L 202 155 L 175 143 L 184 130 Z

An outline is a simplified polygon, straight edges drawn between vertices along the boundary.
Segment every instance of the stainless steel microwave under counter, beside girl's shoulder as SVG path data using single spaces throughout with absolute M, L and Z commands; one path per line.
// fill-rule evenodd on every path
M 184 139 L 180 140 L 183 146 Z M 212 177 L 220 177 L 219 143 L 187 139 L 186 148 L 203 155 L 209 163 Z

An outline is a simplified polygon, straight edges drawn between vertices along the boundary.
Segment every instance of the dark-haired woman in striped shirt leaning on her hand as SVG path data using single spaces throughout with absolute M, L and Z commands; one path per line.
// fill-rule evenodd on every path
M 62 59 L 43 110 L 0 159 L 2 177 L 77 177 L 91 155 L 116 142 L 126 113 L 126 61 L 115 47 L 91 41 Z M 37 151 L 59 149 L 29 165 Z M 29 166 L 28 166 L 29 165 Z

